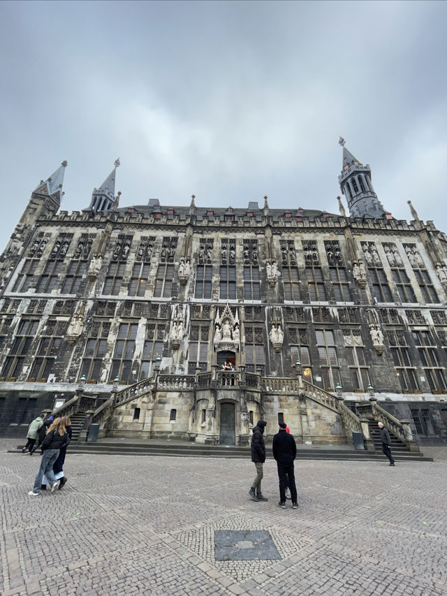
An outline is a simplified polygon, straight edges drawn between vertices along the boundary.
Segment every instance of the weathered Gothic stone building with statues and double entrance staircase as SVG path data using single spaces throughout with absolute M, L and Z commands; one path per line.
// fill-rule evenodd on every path
M 339 215 L 120 207 L 118 161 L 68 213 L 66 162 L 41 180 L 0 258 L 0 432 L 56 411 L 244 444 L 263 418 L 337 444 L 368 441 L 369 417 L 447 442 L 446 235 L 410 202 L 409 222 L 386 212 L 342 145 L 349 217 L 341 198 Z

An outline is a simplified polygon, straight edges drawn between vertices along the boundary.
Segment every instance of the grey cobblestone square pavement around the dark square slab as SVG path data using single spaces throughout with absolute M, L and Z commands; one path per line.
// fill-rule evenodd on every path
M 0 441 L 3 596 L 447 594 L 446 458 L 298 460 L 300 507 L 284 510 L 273 460 L 268 502 L 249 499 L 249 461 L 69 451 L 64 490 L 29 497 L 40 458 L 13 445 Z M 215 530 L 267 530 L 280 558 L 217 561 Z

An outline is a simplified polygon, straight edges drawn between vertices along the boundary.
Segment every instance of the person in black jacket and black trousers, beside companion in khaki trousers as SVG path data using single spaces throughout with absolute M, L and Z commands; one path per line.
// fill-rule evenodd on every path
M 298 508 L 293 461 L 296 457 L 296 443 L 293 435 L 287 433 L 285 422 L 279 423 L 279 432 L 273 437 L 273 457 L 277 460 L 279 477 L 279 507 L 286 509 L 287 479 L 291 489 L 292 508 Z

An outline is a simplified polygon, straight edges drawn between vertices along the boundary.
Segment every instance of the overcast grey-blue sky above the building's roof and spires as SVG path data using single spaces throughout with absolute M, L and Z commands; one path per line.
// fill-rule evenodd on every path
M 68 160 L 121 206 L 338 212 L 339 135 L 384 207 L 447 231 L 447 3 L 3 1 L 0 231 Z

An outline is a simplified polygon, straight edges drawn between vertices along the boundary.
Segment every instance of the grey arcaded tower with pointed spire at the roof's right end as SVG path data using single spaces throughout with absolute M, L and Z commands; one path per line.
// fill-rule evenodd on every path
M 344 138 L 339 138 L 343 147 L 342 173 L 338 177 L 340 189 L 348 202 L 351 217 L 380 218 L 386 215 L 383 205 L 377 198 L 371 181 L 371 168 L 364 166 L 344 146 Z

